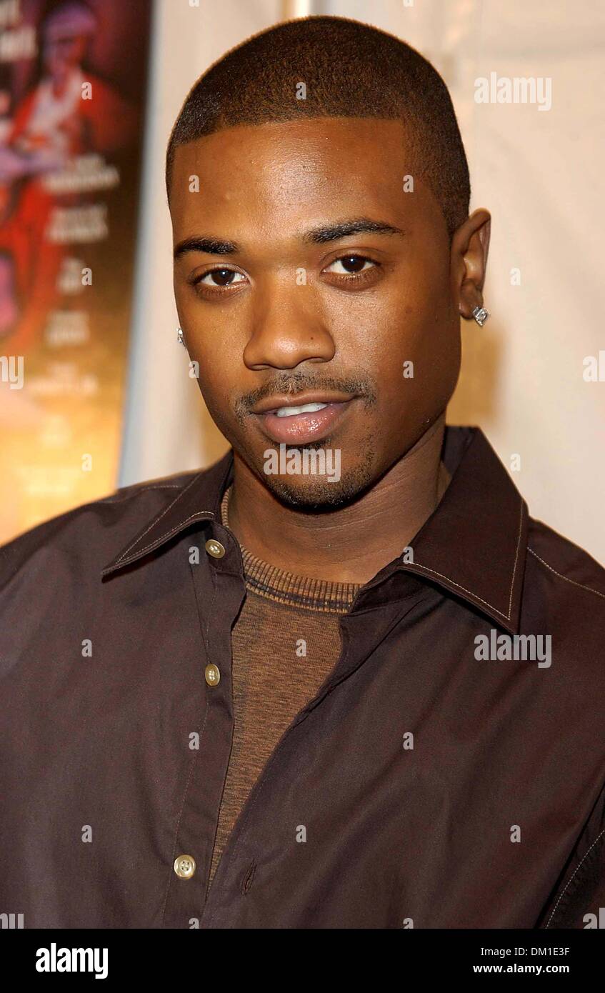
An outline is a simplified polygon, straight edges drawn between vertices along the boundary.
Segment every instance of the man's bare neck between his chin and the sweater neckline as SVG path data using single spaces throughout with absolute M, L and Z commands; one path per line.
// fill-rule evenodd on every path
M 401 553 L 449 483 L 440 461 L 445 414 L 354 503 L 301 513 L 281 503 L 234 455 L 229 528 L 252 555 L 300 576 L 367 583 Z

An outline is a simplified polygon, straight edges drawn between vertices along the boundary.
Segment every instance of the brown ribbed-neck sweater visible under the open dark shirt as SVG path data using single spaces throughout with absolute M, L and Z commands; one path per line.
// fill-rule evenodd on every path
M 228 526 L 230 487 L 222 503 Z M 339 618 L 356 583 L 294 576 L 241 548 L 246 597 L 231 632 L 233 741 L 210 883 L 248 793 L 296 714 L 341 652 Z

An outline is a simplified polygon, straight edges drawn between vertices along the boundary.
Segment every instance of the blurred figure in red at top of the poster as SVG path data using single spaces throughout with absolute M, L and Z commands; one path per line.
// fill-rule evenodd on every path
M 75 199 L 49 193 L 44 178 L 76 156 L 119 151 L 136 135 L 136 108 L 85 68 L 98 26 L 79 0 L 42 20 L 42 74 L 17 103 L 0 148 L 0 336 L 17 335 L 18 350 L 29 347 L 57 296 L 66 247 L 46 237 L 53 206 Z

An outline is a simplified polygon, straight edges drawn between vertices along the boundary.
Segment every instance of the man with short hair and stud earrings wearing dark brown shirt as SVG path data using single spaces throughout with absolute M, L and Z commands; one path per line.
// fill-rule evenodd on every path
M 605 576 L 445 427 L 490 215 L 443 81 L 357 22 L 279 25 L 194 85 L 167 191 L 231 448 L 3 550 L 3 909 L 592 925 Z

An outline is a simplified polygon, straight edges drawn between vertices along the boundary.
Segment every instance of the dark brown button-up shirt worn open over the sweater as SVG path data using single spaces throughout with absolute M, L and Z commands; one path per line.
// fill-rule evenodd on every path
M 232 453 L 0 549 L 0 912 L 26 927 L 595 925 L 605 571 L 529 517 L 480 430 L 447 428 L 443 460 L 452 480 L 413 561 L 393 548 L 340 620 L 340 657 L 211 887 L 245 597 L 221 522 Z

